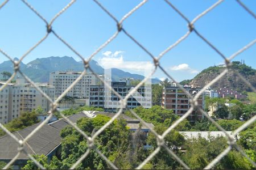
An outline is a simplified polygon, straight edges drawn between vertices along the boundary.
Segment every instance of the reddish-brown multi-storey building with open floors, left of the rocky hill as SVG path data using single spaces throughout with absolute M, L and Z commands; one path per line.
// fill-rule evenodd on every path
M 195 96 L 199 92 L 200 88 L 184 87 L 189 94 Z M 204 94 L 197 100 L 198 106 L 204 109 Z M 185 92 L 183 92 L 179 87 L 164 87 L 162 96 L 162 108 L 172 109 L 175 114 L 183 116 L 189 108 L 191 108 L 191 103 Z M 194 110 L 188 117 L 190 121 L 195 121 L 196 118 L 202 118 L 202 114 Z

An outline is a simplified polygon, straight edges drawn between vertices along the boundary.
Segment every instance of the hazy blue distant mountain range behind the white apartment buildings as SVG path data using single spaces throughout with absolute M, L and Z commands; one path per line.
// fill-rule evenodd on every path
M 18 58 L 14 58 L 18 60 Z M 90 67 L 97 74 L 104 74 L 104 68 L 98 65 L 95 60 L 90 61 Z M 76 61 L 72 57 L 47 57 L 47 58 L 37 58 L 27 64 L 20 63 L 20 70 L 26 74 L 34 82 L 49 82 L 49 74 L 54 71 L 83 71 L 84 65 L 82 61 Z M 8 71 L 13 73 L 13 63 L 11 61 L 5 61 L 0 64 L 0 73 L 3 71 Z M 136 80 L 142 80 L 143 75 L 131 74 L 129 72 L 112 69 L 112 78 L 114 81 L 119 81 L 121 78 L 134 78 Z M 159 83 L 158 78 L 152 78 L 152 83 Z

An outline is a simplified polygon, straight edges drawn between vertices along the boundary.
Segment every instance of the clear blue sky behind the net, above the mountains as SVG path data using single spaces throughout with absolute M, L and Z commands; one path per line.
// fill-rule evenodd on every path
M 0 0 L 2 3 L 3 0 Z M 69 1 L 28 1 L 48 21 Z M 100 1 L 118 20 L 140 1 Z M 171 1 L 189 20 L 213 5 L 216 1 Z M 256 1 L 244 0 L 254 13 Z M 20 58 L 46 33 L 44 22 L 21 1 L 10 0 L 0 10 L 0 48 L 10 56 Z M 89 57 L 116 31 L 116 24 L 93 1 L 77 0 L 52 25 L 64 40 L 69 42 L 82 56 Z M 230 56 L 256 38 L 256 21 L 236 1 L 227 0 L 195 23 L 197 31 L 215 45 L 224 55 Z M 164 1 L 151 0 L 135 11 L 123 28 L 146 47 L 154 56 L 173 44 L 187 31 L 187 23 Z M 110 53 L 112 52 L 112 53 Z M 116 53 L 115 53 L 116 52 Z M 114 55 L 114 53 L 116 55 Z M 49 56 L 76 56 L 55 36 L 49 37 L 32 51 L 23 62 Z M 256 69 L 256 45 L 240 54 L 235 60 Z M 123 32 L 119 33 L 106 48 L 93 59 L 108 61 L 147 61 L 152 59 Z M 0 54 L 0 62 L 7 58 Z M 160 64 L 176 80 L 191 79 L 199 71 L 218 65 L 223 59 L 195 33 L 168 52 Z M 128 70 L 129 71 L 129 70 Z M 130 70 L 131 72 L 131 70 Z M 134 70 L 134 73 L 139 73 Z M 166 77 L 158 70 L 154 77 Z

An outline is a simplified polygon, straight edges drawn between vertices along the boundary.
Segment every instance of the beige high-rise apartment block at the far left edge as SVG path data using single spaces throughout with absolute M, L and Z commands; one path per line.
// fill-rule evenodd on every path
M 0 87 L 6 84 L 0 82 Z M 47 84 L 36 83 L 43 92 L 54 99 L 54 87 Z M 0 91 L 0 122 L 7 124 L 13 118 L 19 117 L 22 112 L 31 112 L 33 109 L 42 107 L 47 112 L 50 107 L 49 101 L 31 86 L 17 78 L 16 83 L 9 83 Z

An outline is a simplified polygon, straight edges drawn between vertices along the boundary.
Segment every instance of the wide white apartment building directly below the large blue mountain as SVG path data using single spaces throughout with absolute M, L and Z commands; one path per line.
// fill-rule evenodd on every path
M 55 98 L 60 96 L 82 73 L 56 71 L 50 74 L 49 84 L 55 87 Z M 67 96 L 78 99 L 89 99 L 89 86 L 100 84 L 100 80 L 92 73 L 86 73 L 67 93 Z

